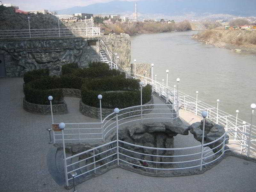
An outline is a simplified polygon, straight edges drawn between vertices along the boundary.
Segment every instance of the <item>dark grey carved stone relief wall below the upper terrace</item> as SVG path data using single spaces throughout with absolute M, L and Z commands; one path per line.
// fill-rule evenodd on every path
M 100 61 L 99 45 L 88 46 L 88 41 L 98 38 L 50 38 L 2 40 L 0 54 L 4 54 L 6 76 L 23 76 L 33 69 L 49 68 L 59 75 L 61 66 L 78 63 L 87 67 L 90 61 Z

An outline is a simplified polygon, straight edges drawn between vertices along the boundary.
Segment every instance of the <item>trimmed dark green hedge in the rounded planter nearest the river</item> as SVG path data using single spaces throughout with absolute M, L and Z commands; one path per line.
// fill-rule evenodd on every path
M 151 99 L 152 87 L 142 88 L 142 104 Z M 98 95 L 102 95 L 102 108 L 127 108 L 140 105 L 140 85 L 137 79 L 122 76 L 92 79 L 82 85 L 81 97 L 84 104 L 100 107 Z

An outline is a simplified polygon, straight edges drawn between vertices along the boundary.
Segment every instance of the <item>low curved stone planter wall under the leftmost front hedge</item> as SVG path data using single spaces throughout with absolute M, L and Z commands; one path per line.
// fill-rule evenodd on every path
M 40 105 L 35 103 L 30 103 L 26 101 L 25 97 L 23 98 L 23 108 L 25 111 L 34 114 L 41 114 L 41 115 L 50 115 L 51 114 L 51 106 L 50 105 Z M 52 105 L 52 112 L 54 115 L 59 114 L 67 114 L 68 107 L 66 103 Z

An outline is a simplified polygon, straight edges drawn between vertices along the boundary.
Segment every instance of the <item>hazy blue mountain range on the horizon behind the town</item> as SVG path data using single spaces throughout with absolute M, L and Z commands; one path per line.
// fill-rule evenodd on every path
M 235 16 L 255 16 L 256 0 L 143 0 L 137 2 L 138 14 L 141 16 L 161 15 L 179 16 L 193 14 L 229 14 Z M 134 1 L 111 1 L 87 6 L 75 6 L 56 10 L 58 14 L 93 13 L 131 15 L 135 12 Z

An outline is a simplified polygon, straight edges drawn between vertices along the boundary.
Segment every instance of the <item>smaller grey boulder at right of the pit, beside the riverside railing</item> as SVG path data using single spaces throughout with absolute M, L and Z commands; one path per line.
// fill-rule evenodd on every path
M 202 136 L 203 136 L 203 120 L 201 122 L 193 123 L 189 126 L 190 132 L 194 135 L 194 138 L 200 142 L 202 142 Z M 220 138 L 225 133 L 225 129 L 223 126 L 219 124 L 215 124 L 212 121 L 205 119 L 205 126 L 204 126 L 204 143 L 212 142 L 218 138 Z M 228 137 L 228 135 L 226 135 Z M 220 139 L 210 145 L 207 145 L 208 147 L 212 148 L 214 153 L 217 153 L 221 148 L 222 145 L 221 142 L 223 139 Z M 226 140 L 226 143 L 228 143 L 228 140 Z M 220 145 L 219 147 L 217 147 Z M 215 148 L 217 147 L 217 148 Z

